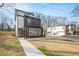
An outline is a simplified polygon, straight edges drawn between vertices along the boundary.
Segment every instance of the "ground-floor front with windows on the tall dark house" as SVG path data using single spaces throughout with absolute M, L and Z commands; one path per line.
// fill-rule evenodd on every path
M 19 37 L 42 36 L 41 28 L 18 28 Z

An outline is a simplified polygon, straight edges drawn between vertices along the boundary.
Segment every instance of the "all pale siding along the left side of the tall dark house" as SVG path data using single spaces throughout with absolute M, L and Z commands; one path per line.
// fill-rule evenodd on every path
M 23 28 L 24 27 L 24 19 L 21 16 L 23 16 L 24 13 L 21 11 L 16 11 L 16 37 L 18 37 L 18 28 Z

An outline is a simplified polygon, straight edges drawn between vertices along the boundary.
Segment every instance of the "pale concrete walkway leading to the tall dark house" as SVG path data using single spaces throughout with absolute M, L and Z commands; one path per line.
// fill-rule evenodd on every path
M 45 56 L 41 51 L 28 42 L 27 39 L 19 38 L 19 41 L 27 56 Z

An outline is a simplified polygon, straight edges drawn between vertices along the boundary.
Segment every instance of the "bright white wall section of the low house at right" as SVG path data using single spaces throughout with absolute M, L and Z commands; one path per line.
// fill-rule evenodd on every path
M 65 26 L 47 28 L 48 36 L 63 36 L 65 35 Z

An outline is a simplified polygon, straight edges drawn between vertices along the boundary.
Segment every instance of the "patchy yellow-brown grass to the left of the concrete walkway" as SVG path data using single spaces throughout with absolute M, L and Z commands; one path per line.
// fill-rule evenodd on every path
M 0 31 L 0 56 L 24 56 L 24 50 L 14 32 Z

